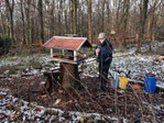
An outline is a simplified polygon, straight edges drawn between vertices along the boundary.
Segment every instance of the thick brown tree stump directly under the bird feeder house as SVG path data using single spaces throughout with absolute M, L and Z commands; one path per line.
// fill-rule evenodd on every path
M 61 83 L 64 89 L 79 90 L 81 89 L 78 65 L 61 63 Z

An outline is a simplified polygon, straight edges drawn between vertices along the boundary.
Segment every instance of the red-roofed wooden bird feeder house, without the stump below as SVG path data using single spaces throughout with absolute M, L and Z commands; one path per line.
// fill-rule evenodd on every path
M 86 59 L 80 49 L 91 47 L 91 44 L 87 37 L 53 36 L 43 46 L 51 49 L 51 58 L 56 62 L 80 64 Z M 54 49 L 61 51 L 61 54 L 54 54 Z

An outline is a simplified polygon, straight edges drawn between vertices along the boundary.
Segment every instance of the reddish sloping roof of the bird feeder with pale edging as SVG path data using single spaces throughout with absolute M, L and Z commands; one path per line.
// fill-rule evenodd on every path
M 47 48 L 79 51 L 81 47 L 91 47 L 91 44 L 87 37 L 53 36 L 43 46 Z

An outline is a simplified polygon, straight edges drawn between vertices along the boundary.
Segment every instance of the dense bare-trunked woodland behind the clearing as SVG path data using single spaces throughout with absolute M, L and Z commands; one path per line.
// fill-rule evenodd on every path
M 97 42 L 99 32 L 116 36 L 164 35 L 163 0 L 0 0 L 0 37 L 12 44 L 45 43 L 77 34 Z M 139 40 L 138 52 L 141 52 Z

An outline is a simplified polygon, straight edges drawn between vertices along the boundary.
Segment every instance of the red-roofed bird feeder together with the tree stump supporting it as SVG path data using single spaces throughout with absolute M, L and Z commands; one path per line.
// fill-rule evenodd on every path
M 78 65 L 87 57 L 85 53 L 91 44 L 87 37 L 54 36 L 44 47 L 51 49 L 51 58 L 59 62 L 61 85 L 65 89 L 80 89 Z

